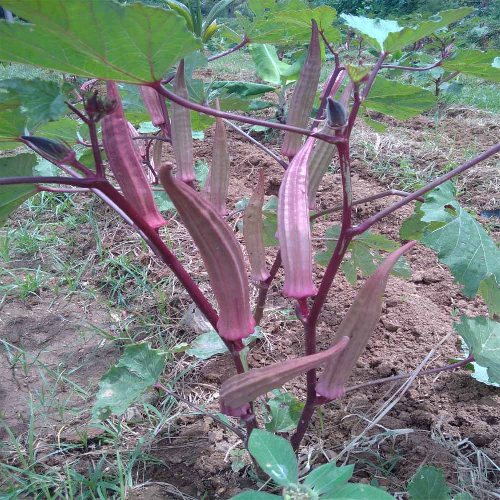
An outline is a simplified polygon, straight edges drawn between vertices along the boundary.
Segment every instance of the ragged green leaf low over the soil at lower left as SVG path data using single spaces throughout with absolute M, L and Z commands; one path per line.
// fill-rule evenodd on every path
M 151 349 L 148 343 L 132 344 L 125 348 L 120 361 L 99 381 L 100 390 L 92 410 L 94 418 L 121 415 L 154 385 L 165 368 L 165 354 Z

